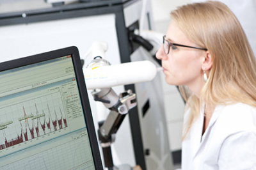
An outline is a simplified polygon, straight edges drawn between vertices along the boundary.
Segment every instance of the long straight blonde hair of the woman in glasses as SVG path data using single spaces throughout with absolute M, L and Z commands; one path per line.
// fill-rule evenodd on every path
M 209 50 L 213 62 L 200 98 L 180 86 L 191 109 L 182 138 L 198 118 L 203 103 L 215 107 L 242 102 L 256 107 L 256 59 L 234 13 L 223 3 L 207 1 L 180 6 L 171 18 L 189 40 Z

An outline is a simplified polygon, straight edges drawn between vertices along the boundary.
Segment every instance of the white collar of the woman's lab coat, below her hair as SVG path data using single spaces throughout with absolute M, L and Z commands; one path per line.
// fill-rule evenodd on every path
M 195 146 L 192 150 L 193 158 L 196 157 L 196 154 L 202 147 L 205 141 L 205 136 L 207 136 L 211 132 L 212 125 L 218 120 L 218 117 L 220 116 L 221 110 L 223 109 L 224 105 L 217 105 L 214 109 L 214 112 L 212 113 L 211 120 L 209 122 L 208 127 L 206 128 L 204 135 L 202 136 L 203 132 L 203 126 L 204 126 L 204 110 L 205 108 L 202 107 L 200 109 L 200 116 L 198 118 L 198 121 L 195 122 L 195 130 L 193 132 L 196 133 L 195 138 L 192 139 L 192 146 Z

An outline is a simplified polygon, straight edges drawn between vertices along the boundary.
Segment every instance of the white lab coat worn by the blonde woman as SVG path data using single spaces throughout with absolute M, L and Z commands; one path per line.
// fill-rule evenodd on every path
M 182 142 L 182 170 L 256 169 L 256 108 L 218 105 L 202 136 L 203 113 Z

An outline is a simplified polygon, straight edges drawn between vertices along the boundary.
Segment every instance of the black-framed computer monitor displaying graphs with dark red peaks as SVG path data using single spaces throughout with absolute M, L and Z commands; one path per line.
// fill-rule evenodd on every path
M 0 169 L 103 169 L 76 47 L 0 63 Z

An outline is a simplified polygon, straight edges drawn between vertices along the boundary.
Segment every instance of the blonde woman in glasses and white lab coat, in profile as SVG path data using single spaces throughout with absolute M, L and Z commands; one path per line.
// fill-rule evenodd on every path
M 171 18 L 157 58 L 187 101 L 182 169 L 256 169 L 256 60 L 243 28 L 217 1 Z

